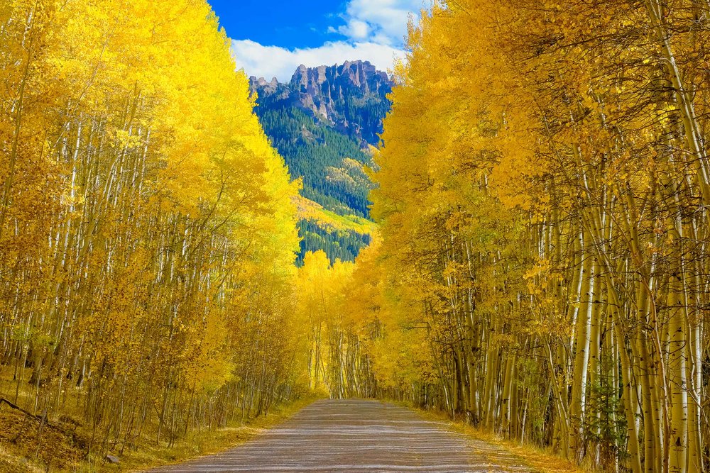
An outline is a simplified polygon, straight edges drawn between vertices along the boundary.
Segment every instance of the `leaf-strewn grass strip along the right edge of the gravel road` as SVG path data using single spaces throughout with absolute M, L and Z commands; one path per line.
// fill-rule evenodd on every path
M 488 432 L 481 428 L 476 428 L 472 425 L 466 424 L 464 421 L 454 420 L 447 415 L 447 413 L 427 411 L 422 408 L 417 408 L 408 403 L 400 403 L 413 411 L 417 411 L 423 418 L 428 421 L 435 421 L 438 423 L 446 424 L 454 432 L 466 435 L 468 438 L 473 438 L 475 440 L 481 440 L 492 445 L 503 448 L 515 457 L 520 458 L 523 463 L 528 464 L 529 467 L 534 469 L 539 473 L 589 473 L 592 470 L 580 467 L 569 460 L 566 460 L 559 455 L 555 455 L 541 447 L 536 447 L 535 445 L 520 445 L 520 443 L 515 440 L 509 440 L 501 437 L 501 435 L 496 435 L 495 433 Z

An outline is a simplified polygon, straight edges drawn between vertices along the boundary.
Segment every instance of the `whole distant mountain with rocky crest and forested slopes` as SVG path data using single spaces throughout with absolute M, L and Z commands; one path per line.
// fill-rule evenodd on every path
M 320 249 L 331 260 L 354 260 L 373 228 L 365 169 L 373 166 L 370 148 L 378 144 L 393 82 L 369 62 L 354 61 L 300 66 L 288 84 L 256 77 L 250 84 L 266 134 L 291 177 L 303 181 L 299 263 Z

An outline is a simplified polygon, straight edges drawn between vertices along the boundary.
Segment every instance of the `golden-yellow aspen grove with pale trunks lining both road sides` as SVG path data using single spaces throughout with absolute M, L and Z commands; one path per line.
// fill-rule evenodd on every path
M 710 468 L 709 1 L 435 1 L 354 263 L 206 1 L 2 0 L 0 64 L 0 397 L 89 452 L 315 393 Z

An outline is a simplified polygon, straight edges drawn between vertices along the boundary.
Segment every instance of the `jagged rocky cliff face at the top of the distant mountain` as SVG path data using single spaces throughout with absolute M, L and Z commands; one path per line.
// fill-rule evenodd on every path
M 363 146 L 378 143 L 382 119 L 390 108 L 386 96 L 394 85 L 385 72 L 367 61 L 329 67 L 301 65 L 288 84 L 275 78 L 266 82 L 263 77 L 251 77 L 250 84 L 258 93 L 259 106 L 295 106 Z

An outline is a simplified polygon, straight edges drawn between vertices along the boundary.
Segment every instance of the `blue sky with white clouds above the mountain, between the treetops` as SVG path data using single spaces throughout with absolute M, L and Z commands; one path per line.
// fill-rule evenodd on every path
M 404 55 L 410 16 L 430 0 L 208 0 L 247 75 L 288 82 L 308 67 L 368 60 L 391 68 Z

